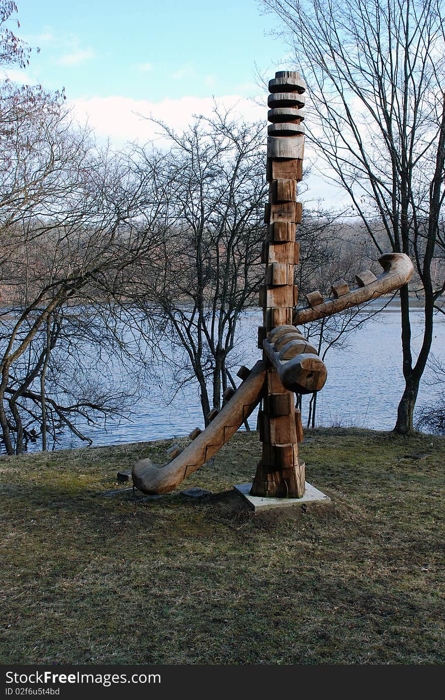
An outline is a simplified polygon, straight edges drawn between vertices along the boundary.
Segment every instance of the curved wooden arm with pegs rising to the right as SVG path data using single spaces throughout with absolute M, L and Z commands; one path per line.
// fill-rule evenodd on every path
M 408 255 L 404 253 L 385 253 L 378 258 L 383 267 L 383 273 L 377 278 L 366 271 L 363 281 L 360 273 L 357 275 L 357 281 L 360 286 L 352 289 L 350 292 L 338 296 L 334 299 L 327 299 L 320 304 L 315 304 L 312 307 L 304 309 L 294 309 L 292 320 L 294 324 L 308 323 L 315 321 L 317 318 L 338 314 L 339 311 L 345 311 L 351 307 L 364 304 L 371 299 L 377 299 L 382 294 L 393 292 L 396 289 L 404 286 L 413 274 L 413 263 Z M 371 280 L 369 283 L 364 283 L 364 280 Z M 345 285 L 345 288 L 348 288 Z

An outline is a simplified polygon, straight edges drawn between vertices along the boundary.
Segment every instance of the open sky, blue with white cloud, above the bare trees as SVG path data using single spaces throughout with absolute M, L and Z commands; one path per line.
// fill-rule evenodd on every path
M 267 90 L 258 73 L 268 80 L 296 67 L 273 35 L 275 15 L 264 13 L 259 0 L 17 4 L 18 35 L 40 52 L 25 71 L 6 72 L 50 90 L 64 87 L 78 121 L 117 148 L 135 140 L 161 144 L 159 127 L 147 118 L 184 130 L 193 114 L 212 112 L 214 99 L 246 120 L 266 122 Z M 310 158 L 306 148 L 306 164 Z M 338 198 L 317 176 L 308 184 L 314 198 Z

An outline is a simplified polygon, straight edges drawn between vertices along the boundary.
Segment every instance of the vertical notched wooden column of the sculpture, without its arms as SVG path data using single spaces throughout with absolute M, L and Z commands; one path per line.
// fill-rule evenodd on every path
M 259 347 L 278 325 L 292 324 L 298 300 L 294 286 L 294 265 L 299 261 L 296 225 L 301 221 L 301 204 L 296 202 L 296 183 L 302 178 L 304 130 L 302 108 L 305 86 L 299 73 L 279 71 L 269 81 L 266 240 L 263 262 L 264 285 L 260 293 L 263 326 Z M 264 356 L 266 359 L 266 356 Z M 268 365 L 267 392 L 259 412 L 259 433 L 263 443 L 252 495 L 301 498 L 304 495 L 304 463 L 299 462 L 295 396 L 282 386 L 277 372 Z

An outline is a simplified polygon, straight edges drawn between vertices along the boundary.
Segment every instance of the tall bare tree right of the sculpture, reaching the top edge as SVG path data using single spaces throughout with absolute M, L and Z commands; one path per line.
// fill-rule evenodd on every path
M 405 286 L 399 292 L 405 388 L 395 424 L 396 432 L 411 433 L 436 302 L 445 289 L 443 5 L 435 0 L 263 3 L 282 20 L 308 83 L 308 137 L 325 174 L 346 190 L 379 252 L 389 246 L 415 262 L 425 327 L 414 358 Z

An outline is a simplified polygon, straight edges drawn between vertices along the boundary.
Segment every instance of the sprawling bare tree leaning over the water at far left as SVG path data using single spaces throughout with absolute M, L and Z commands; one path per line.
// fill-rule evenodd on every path
M 86 440 L 76 419 L 127 411 L 85 341 L 128 356 L 121 289 L 149 256 L 156 211 L 128 158 L 95 148 L 60 96 L 4 84 L 0 152 L 0 426 L 13 454 L 36 435 L 46 449 L 48 431 L 55 444 L 63 426 Z

